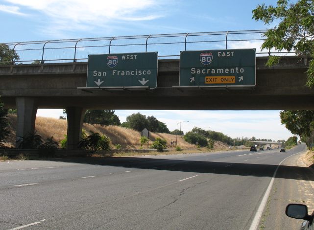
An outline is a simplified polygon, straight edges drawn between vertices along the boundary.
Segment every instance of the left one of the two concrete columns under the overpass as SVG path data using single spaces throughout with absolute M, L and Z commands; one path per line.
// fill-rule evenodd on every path
M 15 99 L 18 113 L 16 141 L 22 141 L 23 137 L 35 132 L 35 120 L 38 109 L 37 100 L 32 97 L 17 97 Z M 19 143 L 16 143 L 18 147 Z

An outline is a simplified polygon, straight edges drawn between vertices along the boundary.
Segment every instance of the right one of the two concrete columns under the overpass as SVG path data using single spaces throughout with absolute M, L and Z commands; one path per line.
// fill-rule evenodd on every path
M 77 143 L 82 136 L 85 109 L 82 107 L 66 107 L 68 119 L 67 149 L 77 149 Z

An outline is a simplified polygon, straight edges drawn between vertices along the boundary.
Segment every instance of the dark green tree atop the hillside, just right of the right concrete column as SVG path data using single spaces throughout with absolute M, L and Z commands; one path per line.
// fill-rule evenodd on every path
M 89 124 L 121 125 L 119 117 L 114 113 L 114 110 L 87 110 L 83 121 Z

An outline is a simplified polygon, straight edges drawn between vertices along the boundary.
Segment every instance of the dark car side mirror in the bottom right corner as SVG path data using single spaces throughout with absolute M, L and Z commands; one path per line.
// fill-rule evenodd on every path
M 308 207 L 306 205 L 289 204 L 286 207 L 286 215 L 291 218 L 305 220 L 302 223 L 301 230 L 314 230 L 314 212 L 312 213 L 312 215 L 309 215 Z

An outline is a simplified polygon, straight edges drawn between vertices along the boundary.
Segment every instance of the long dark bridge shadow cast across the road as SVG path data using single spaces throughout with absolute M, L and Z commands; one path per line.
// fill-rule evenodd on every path
M 51 159 L 52 160 L 52 159 Z M 53 160 L 52 160 L 53 161 Z M 226 174 L 252 177 L 272 177 L 277 166 L 273 164 L 252 164 L 215 161 L 188 161 L 177 159 L 156 159 L 141 157 L 114 158 L 71 158 L 57 161 L 115 166 L 121 168 L 141 168 L 194 173 Z M 312 165 L 313 166 L 313 165 Z M 314 181 L 314 174 L 307 167 L 281 165 L 276 178 Z

